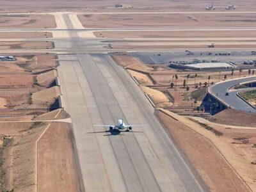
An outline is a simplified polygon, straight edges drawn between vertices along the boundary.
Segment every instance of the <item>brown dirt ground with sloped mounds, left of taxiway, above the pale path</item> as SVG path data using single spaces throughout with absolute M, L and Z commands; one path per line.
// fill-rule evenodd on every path
M 1 109 L 22 109 L 49 107 L 58 97 L 55 92 L 44 89 L 51 85 L 56 78 L 56 70 L 49 70 L 56 67 L 54 55 L 18 55 L 17 61 L 0 62 L 0 108 Z M 44 70 L 49 70 L 44 72 Z M 38 74 L 32 72 L 40 71 Z M 51 90 L 51 89 L 50 89 Z M 48 97 L 38 99 L 36 95 L 45 95 Z M 54 93 L 51 96 L 51 93 Z M 46 99 L 46 100 L 45 100 Z M 50 99 L 50 100 L 47 100 Z M 1 115 L 13 113 L 21 115 L 33 113 L 29 111 L 0 111 Z

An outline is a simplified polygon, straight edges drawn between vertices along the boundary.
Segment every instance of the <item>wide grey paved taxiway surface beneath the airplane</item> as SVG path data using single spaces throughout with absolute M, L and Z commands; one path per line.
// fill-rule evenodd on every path
M 72 28 L 68 16 L 65 26 Z M 60 34 L 58 34 L 60 35 Z M 67 34 L 63 34 L 67 35 Z M 74 33 L 69 38 L 77 38 Z M 56 42 L 56 47 L 77 47 Z M 60 55 L 64 108 L 74 127 L 85 191 L 207 191 L 154 116 L 154 108 L 107 54 Z M 93 124 L 147 124 L 111 134 Z

